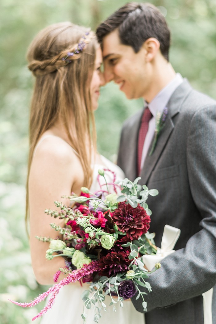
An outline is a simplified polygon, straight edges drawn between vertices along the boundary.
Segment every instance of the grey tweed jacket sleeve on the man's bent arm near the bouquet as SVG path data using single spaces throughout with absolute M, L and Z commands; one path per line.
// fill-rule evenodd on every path
M 161 269 L 149 276 L 152 292 L 144 295 L 147 312 L 201 295 L 216 284 L 215 105 L 194 114 L 186 145 L 188 181 L 202 217 L 200 231 L 190 237 L 185 248 L 163 259 Z M 144 312 L 140 298 L 131 300 L 139 312 Z

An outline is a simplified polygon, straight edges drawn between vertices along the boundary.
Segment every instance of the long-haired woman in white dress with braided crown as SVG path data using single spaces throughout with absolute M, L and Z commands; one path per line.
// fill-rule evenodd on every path
M 82 186 L 97 188 L 97 170 L 108 168 L 119 179 L 123 172 L 96 151 L 94 110 L 105 81 L 100 70 L 101 49 L 95 34 L 71 23 L 58 23 L 39 32 L 28 49 L 28 68 L 36 77 L 30 111 L 30 149 L 27 181 L 26 221 L 30 226 L 32 267 L 40 284 L 53 284 L 53 275 L 64 267 L 64 259 L 46 260 L 49 243 L 35 236 L 57 237 L 44 214 L 53 209 L 54 200 L 69 204 L 63 195 L 80 194 Z M 64 220 L 55 219 L 63 226 Z M 65 275 L 61 274 L 59 280 Z M 45 315 L 43 324 L 82 324 L 83 301 L 88 284 L 64 286 Z M 109 304 L 107 304 L 108 306 Z M 143 323 L 131 301 L 124 308 L 107 307 L 101 322 Z M 87 323 L 93 323 L 90 312 Z

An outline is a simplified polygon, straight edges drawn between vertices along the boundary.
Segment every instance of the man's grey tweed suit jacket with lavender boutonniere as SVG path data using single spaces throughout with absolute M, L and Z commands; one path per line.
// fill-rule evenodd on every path
M 213 286 L 216 324 L 216 102 L 184 80 L 167 107 L 165 127 L 153 155 L 146 157 L 140 183 L 159 191 L 147 201 L 156 245 L 166 224 L 180 228 L 181 235 L 176 252 L 149 277 L 146 324 L 203 324 L 201 294 Z M 141 115 L 124 123 L 119 145 L 118 165 L 131 180 Z M 143 312 L 140 299 L 132 302 Z

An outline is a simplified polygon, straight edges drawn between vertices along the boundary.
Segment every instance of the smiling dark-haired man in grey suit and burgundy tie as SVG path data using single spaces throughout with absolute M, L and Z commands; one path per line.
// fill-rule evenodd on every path
M 156 245 L 166 224 L 181 229 L 176 251 L 149 277 L 146 324 L 203 324 L 202 294 L 216 284 L 216 102 L 174 71 L 170 31 L 156 7 L 121 7 L 100 24 L 97 37 L 106 81 L 129 99 L 145 100 L 123 125 L 118 164 L 132 181 L 140 176 L 159 191 L 148 198 Z M 158 113 L 163 121 L 154 141 Z M 143 312 L 140 299 L 132 302 Z M 215 324 L 216 289 L 212 318 Z

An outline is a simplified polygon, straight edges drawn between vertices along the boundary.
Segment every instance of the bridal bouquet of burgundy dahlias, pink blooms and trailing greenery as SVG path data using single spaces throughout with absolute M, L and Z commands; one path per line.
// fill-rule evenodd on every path
M 47 305 L 33 320 L 52 307 L 61 287 L 75 281 L 89 283 L 89 288 L 81 295 L 84 323 L 90 308 L 94 309 L 94 321 L 98 323 L 101 310 L 106 311 L 106 295 L 110 298 L 109 305 L 113 305 L 113 311 L 118 303 L 123 307 L 123 301 L 135 294 L 146 310 L 144 295 L 147 293 L 142 292 L 140 287 L 151 292 L 151 285 L 146 279 L 149 273 L 160 268 L 160 263 L 156 263 L 154 269 L 148 272 L 142 262 L 143 255 L 153 255 L 157 249 L 154 234 L 148 232 L 151 210 L 146 200 L 148 195 L 155 196 L 158 191 L 139 185 L 141 178 L 134 182 L 125 178 L 113 181 L 113 190 L 109 192 L 104 170 L 98 170 L 98 181 L 99 177 L 105 180 L 105 190 L 101 187 L 100 191 L 92 193 L 83 187 L 80 196 L 73 194 L 68 197 L 74 204 L 73 208 L 55 202 L 60 211 L 45 210 L 54 218 L 64 218 L 65 227 L 50 224 L 55 231 L 59 231 L 61 239 L 37 238 L 50 242 L 46 253 L 48 260 L 56 257 L 65 259 L 65 267 L 56 272 L 54 281 L 58 281 L 61 272 L 67 277 L 31 303 L 14 302 L 22 307 L 32 307 L 51 295 Z

